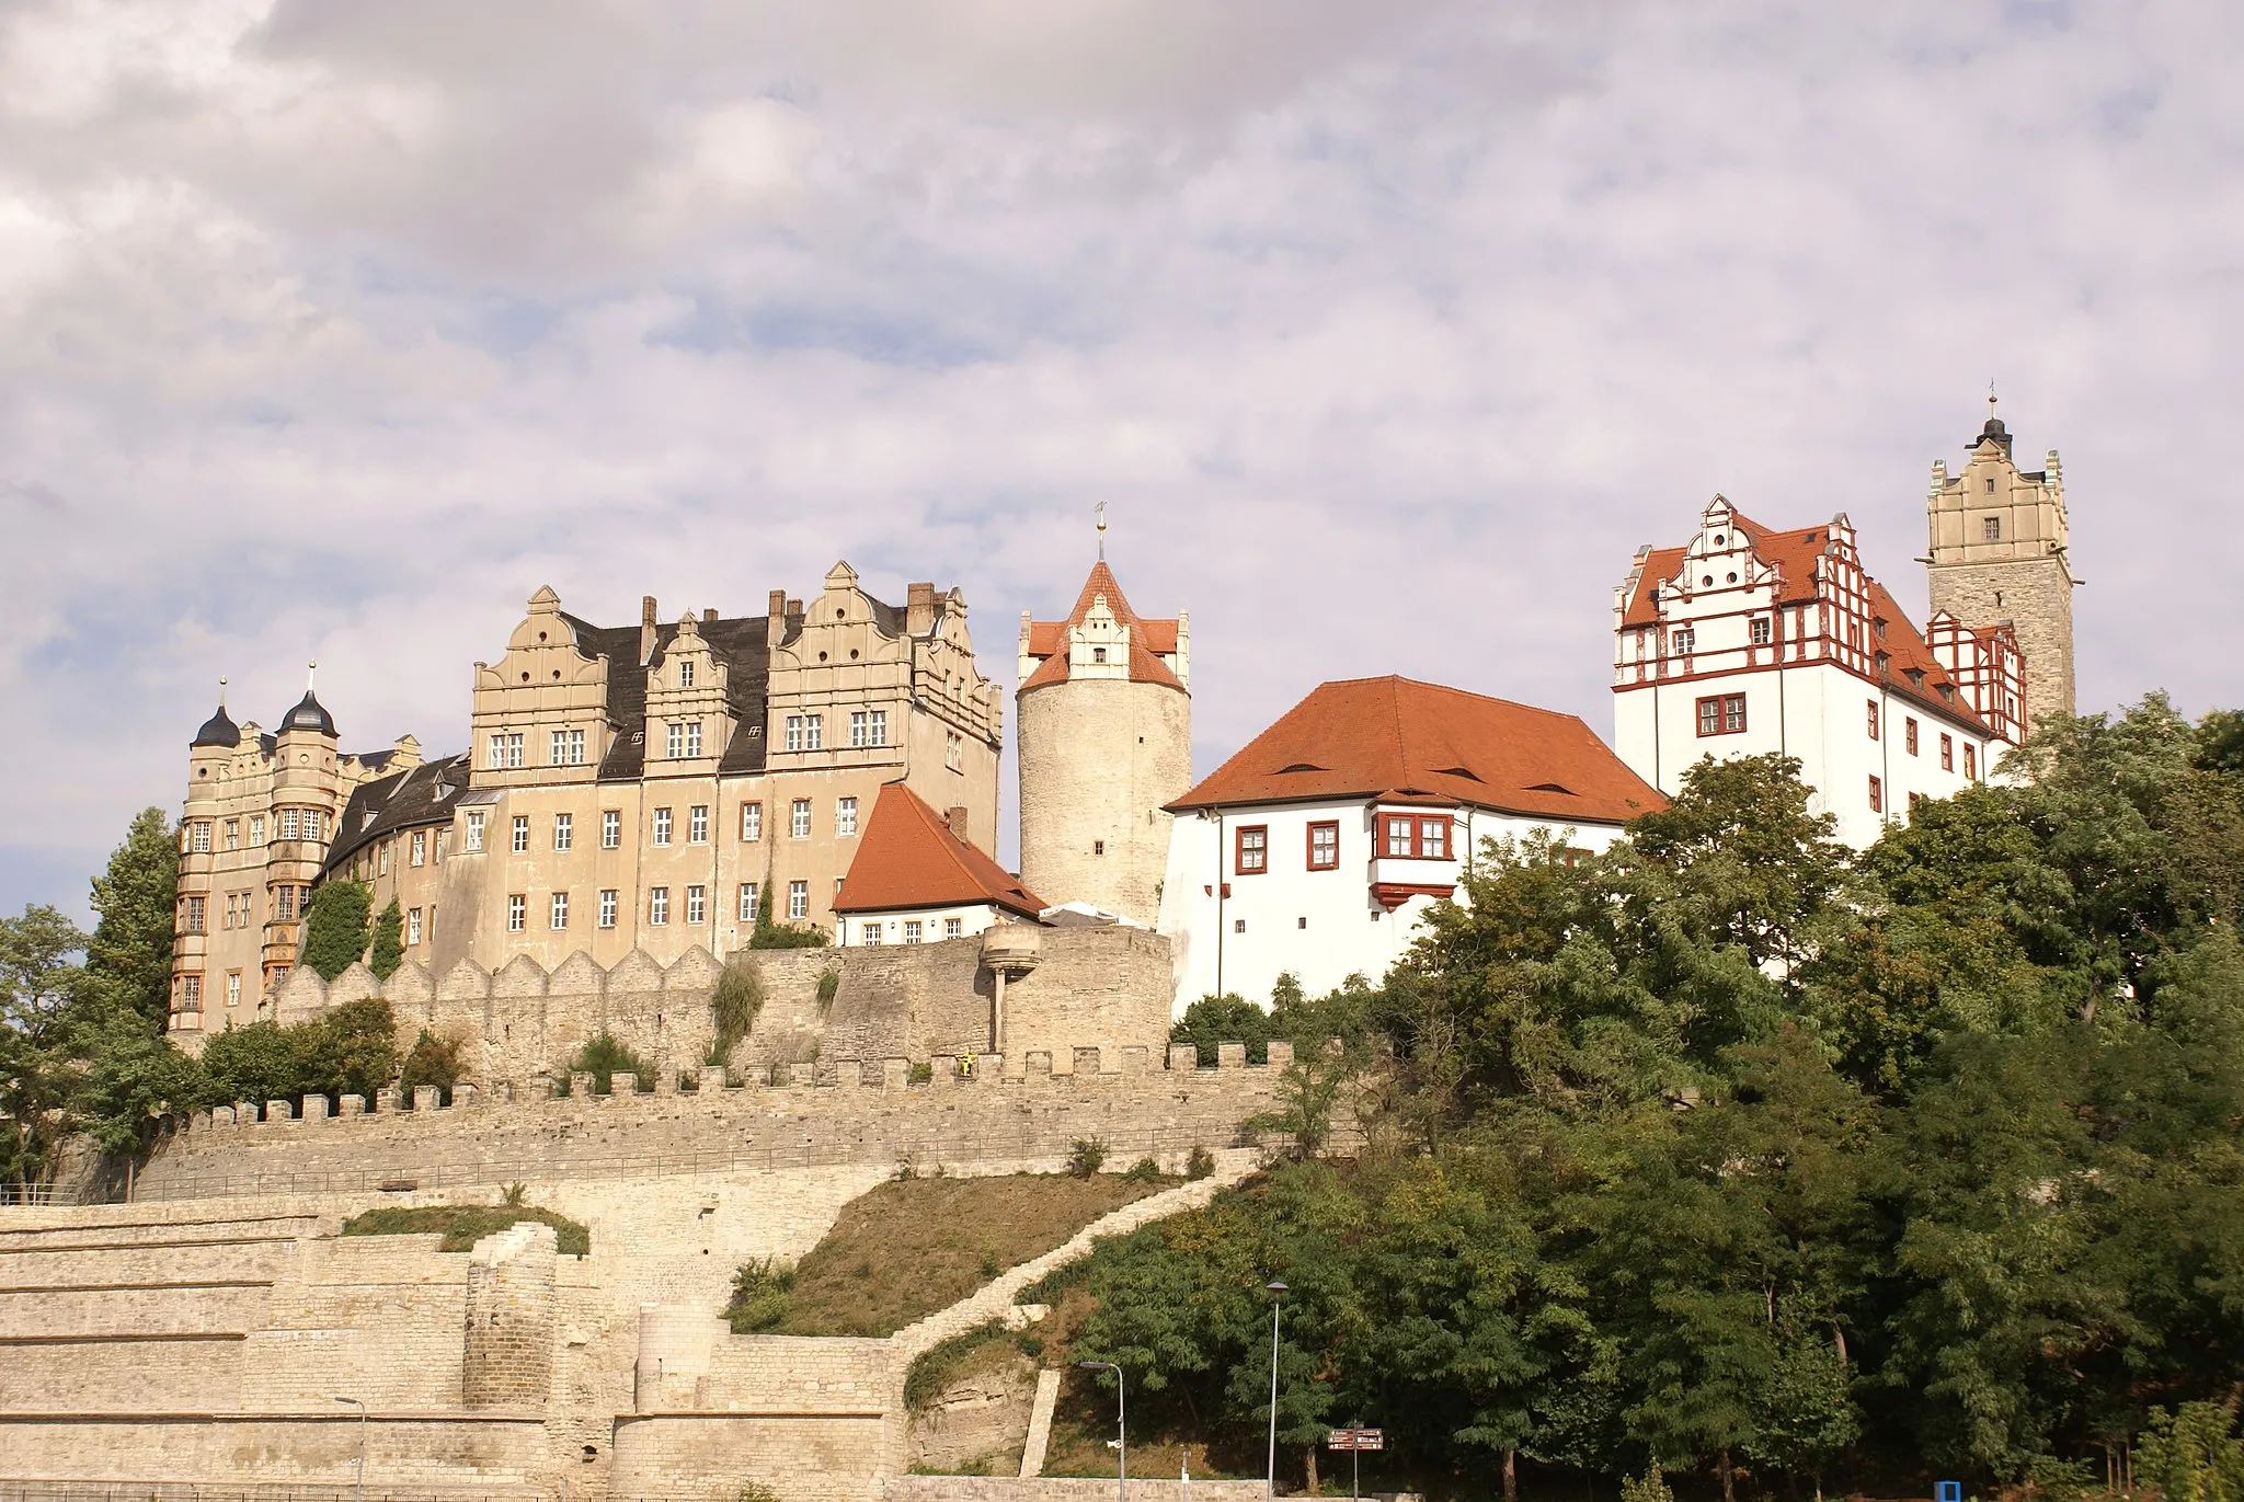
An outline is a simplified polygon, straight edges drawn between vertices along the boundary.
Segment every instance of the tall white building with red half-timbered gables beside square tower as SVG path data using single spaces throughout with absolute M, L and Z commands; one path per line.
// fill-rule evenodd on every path
M 1674 793 L 1703 757 L 1800 759 L 1838 837 L 1871 844 L 1921 797 L 1986 779 L 2024 736 L 2008 624 L 1919 633 L 1863 570 L 1847 516 L 1775 532 L 1726 498 L 1613 590 L 1613 748 Z

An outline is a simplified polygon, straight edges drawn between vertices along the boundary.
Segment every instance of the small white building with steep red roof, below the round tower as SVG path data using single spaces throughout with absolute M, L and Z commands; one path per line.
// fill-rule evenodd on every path
M 835 943 L 938 943 L 996 923 L 1034 923 L 1043 898 L 1021 885 L 900 781 L 880 790 L 873 819 L 835 894 Z

